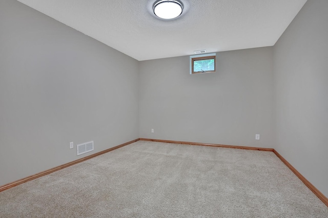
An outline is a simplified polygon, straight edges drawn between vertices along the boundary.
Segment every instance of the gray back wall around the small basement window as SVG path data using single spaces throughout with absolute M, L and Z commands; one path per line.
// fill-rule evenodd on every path
M 220 52 L 216 72 L 198 75 L 189 56 L 141 61 L 140 137 L 272 148 L 272 55 Z

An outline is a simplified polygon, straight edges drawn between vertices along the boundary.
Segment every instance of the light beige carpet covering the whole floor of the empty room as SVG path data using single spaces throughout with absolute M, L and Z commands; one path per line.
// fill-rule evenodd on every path
M 272 152 L 138 141 L 0 192 L 1 217 L 328 217 Z

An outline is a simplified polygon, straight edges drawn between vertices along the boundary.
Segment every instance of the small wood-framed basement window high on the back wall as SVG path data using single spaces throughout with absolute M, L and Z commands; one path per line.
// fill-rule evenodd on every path
M 215 53 L 190 56 L 190 74 L 215 72 L 215 57 Z

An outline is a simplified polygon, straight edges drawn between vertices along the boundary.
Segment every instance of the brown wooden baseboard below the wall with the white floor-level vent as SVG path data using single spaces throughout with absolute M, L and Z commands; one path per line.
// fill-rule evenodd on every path
M 139 141 L 139 139 L 135 139 L 135 140 L 132 140 L 132 141 L 129 141 L 129 142 L 126 142 L 124 144 L 120 144 L 119 146 L 116 146 L 116 147 L 113 147 L 113 148 L 110 148 L 110 149 L 107 149 L 107 150 L 104 150 L 104 151 L 101 151 L 101 152 L 98 152 L 98 153 L 95 153 L 95 154 L 92 154 L 92 155 L 89 155 L 87 157 L 84 157 L 84 158 L 80 158 L 80 159 L 77 159 L 77 160 L 74 160 L 72 162 L 69 162 L 69 163 L 65 163 L 63 165 L 60 165 L 60 166 L 56 166 L 54 168 L 51 168 L 51 169 L 48 169 L 47 171 L 43 171 L 43 172 L 40 172 L 40 173 L 37 173 L 37 174 L 34 174 L 32 176 L 29 176 L 29 177 L 26 177 L 26 178 L 23 178 L 23 179 L 19 179 L 17 181 L 14 181 L 14 182 L 11 182 L 11 183 L 8 183 L 6 185 L 2 185 L 0 186 L 0 192 L 1 191 L 4 191 L 4 190 L 7 190 L 9 188 L 12 188 L 12 187 L 15 187 L 17 185 L 20 185 L 20 184 L 23 184 L 25 182 L 28 182 L 28 181 L 31 181 L 33 179 L 36 179 L 36 178 L 39 178 L 39 177 L 42 177 L 42 176 L 45 176 L 45 175 L 48 175 L 48 174 L 51 174 L 53 172 L 56 172 L 56 171 L 59 171 L 59 169 L 64 169 L 66 167 L 69 167 L 69 166 L 72 166 L 74 164 L 77 164 L 77 163 L 80 163 L 80 162 L 83 162 L 83 161 L 86 161 L 86 160 L 89 160 L 91 158 L 94 158 L 96 156 L 99 156 L 99 155 L 102 155 L 102 154 L 105 154 L 105 153 L 108 153 L 108 152 L 111 152 L 113 150 L 116 150 L 116 149 L 119 149 L 121 147 L 124 147 L 124 146 L 127 146 L 128 144 L 131 144 L 133 142 L 136 142 L 136 141 Z

